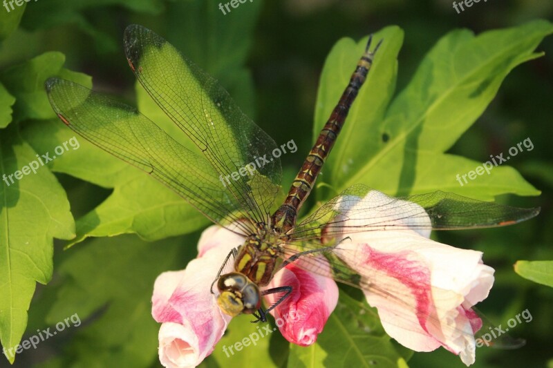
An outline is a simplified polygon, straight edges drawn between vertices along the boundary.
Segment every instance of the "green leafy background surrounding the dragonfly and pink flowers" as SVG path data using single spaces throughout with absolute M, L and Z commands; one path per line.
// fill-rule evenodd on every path
M 449 0 L 253 0 L 227 15 L 212 0 L 38 0 L 9 13 L 0 8 L 0 175 L 73 137 L 44 93 L 54 75 L 93 84 L 167 122 L 135 86 L 124 57 L 123 30 L 139 23 L 216 77 L 277 144 L 294 139 L 297 153 L 281 157 L 286 188 L 364 37 L 378 32 L 384 43 L 375 66 L 319 179 L 325 185 L 305 208 L 356 183 L 391 195 L 444 190 L 541 206 L 536 219 L 517 226 L 434 236 L 483 251 L 496 269 L 480 306 L 496 324 L 532 313 L 532 322 L 512 330 L 525 347 L 478 349 L 475 367 L 553 367 L 553 267 L 514 267 L 553 259 L 553 28 L 537 20 L 552 15 L 551 1 L 480 1 L 461 14 Z M 456 181 L 527 137 L 534 149 L 508 166 L 462 187 Z M 12 347 L 77 313 L 81 326 L 18 354 L 13 366 L 158 367 L 153 281 L 194 258 L 208 222 L 147 175 L 79 142 L 36 175 L 1 182 L 1 343 Z M 68 241 L 75 245 L 64 251 Z M 463 367 L 444 349 L 412 354 L 398 346 L 359 300 L 342 288 L 312 347 L 274 333 L 227 358 L 221 346 L 254 331 L 240 316 L 203 365 L 317 367 L 346 359 L 352 367 Z

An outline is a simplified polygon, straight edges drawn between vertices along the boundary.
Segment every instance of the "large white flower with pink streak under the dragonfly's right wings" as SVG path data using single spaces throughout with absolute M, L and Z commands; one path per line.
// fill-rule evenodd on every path
M 443 346 L 460 355 L 465 365 L 474 363 L 474 333 L 482 321 L 471 307 L 487 298 L 494 283 L 494 269 L 482 264 L 482 253 L 434 242 L 428 239 L 429 230 L 406 229 L 404 225 L 415 221 L 406 219 L 406 213 L 426 214 L 418 204 L 392 201 L 377 191 L 363 199 L 344 199 L 345 226 L 368 218 L 386 222 L 386 231 L 349 234 L 350 240 L 336 250 L 371 285 L 365 296 L 377 308 L 386 333 L 409 349 L 432 351 Z M 400 203 L 402 208 L 397 209 Z M 370 209 L 362 211 L 365 220 L 355 218 L 360 208 Z M 418 216 L 416 224 L 430 229 L 430 218 Z

